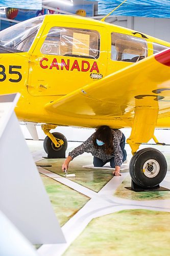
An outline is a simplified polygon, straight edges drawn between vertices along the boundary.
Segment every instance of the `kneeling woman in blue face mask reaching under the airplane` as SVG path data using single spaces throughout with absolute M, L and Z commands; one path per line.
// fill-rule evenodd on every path
M 112 168 L 115 168 L 113 174 L 120 175 L 120 166 L 126 160 L 125 135 L 117 129 L 110 129 L 107 125 L 102 125 L 85 142 L 68 153 L 62 170 L 68 169 L 69 162 L 84 152 L 93 155 L 93 164 L 95 167 L 102 167 L 110 162 Z

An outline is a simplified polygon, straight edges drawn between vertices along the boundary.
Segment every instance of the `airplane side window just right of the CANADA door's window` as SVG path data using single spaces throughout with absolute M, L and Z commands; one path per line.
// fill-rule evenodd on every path
M 147 41 L 135 36 L 111 33 L 111 59 L 136 62 L 148 56 Z

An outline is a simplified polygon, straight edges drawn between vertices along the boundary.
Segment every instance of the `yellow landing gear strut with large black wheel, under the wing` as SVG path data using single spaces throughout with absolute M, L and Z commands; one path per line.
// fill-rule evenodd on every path
M 152 138 L 156 144 L 163 145 L 154 136 L 159 114 L 159 104 L 158 101 L 151 99 L 150 96 L 135 96 L 135 114 L 132 122 L 132 131 L 127 139 L 133 155 L 129 169 L 132 178 L 131 187 L 134 191 L 137 191 L 137 189 L 146 191 L 160 188 L 159 183 L 163 181 L 167 172 L 166 159 L 161 152 L 150 147 L 137 151 L 141 143 L 147 143 Z

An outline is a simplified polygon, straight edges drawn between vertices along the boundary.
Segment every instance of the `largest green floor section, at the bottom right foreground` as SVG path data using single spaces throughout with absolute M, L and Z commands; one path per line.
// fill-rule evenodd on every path
M 169 256 L 170 213 L 123 210 L 93 219 L 63 256 Z

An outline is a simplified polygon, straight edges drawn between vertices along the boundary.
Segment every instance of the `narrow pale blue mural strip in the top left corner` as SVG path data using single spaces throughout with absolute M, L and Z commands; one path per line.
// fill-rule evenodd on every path
M 22 8 L 30 10 L 41 10 L 42 0 L 0 0 L 0 6 L 11 7 L 11 8 Z

